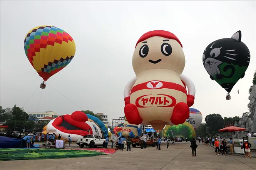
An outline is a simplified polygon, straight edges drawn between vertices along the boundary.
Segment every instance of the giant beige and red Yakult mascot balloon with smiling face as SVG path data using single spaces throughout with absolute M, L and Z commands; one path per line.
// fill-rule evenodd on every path
M 181 74 L 185 56 L 179 39 L 164 30 L 145 33 L 136 43 L 132 66 L 136 77 L 124 89 L 127 121 L 155 130 L 184 123 L 194 104 L 195 87 Z

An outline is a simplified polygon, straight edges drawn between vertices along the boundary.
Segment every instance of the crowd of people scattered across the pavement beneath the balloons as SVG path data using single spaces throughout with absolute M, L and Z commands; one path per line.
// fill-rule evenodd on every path
M 38 134 L 35 134 L 35 133 L 25 134 L 25 136 L 22 138 L 22 135 L 20 134 L 18 136 L 18 139 L 22 139 L 22 142 L 20 144 L 20 148 L 24 147 L 24 145 L 26 145 L 27 148 L 33 147 L 34 142 L 36 141 L 36 136 L 37 135 Z M 253 135 L 254 135 L 254 137 L 256 137 L 256 133 L 254 133 Z M 251 137 L 251 136 L 252 135 L 248 131 L 247 136 L 243 138 L 243 145 L 242 145 L 241 149 L 244 149 L 244 153 L 245 153 L 246 158 L 248 158 L 248 157 L 251 158 L 251 149 L 250 149 L 251 144 L 248 142 L 248 137 Z M 55 139 L 62 139 L 62 137 L 61 137 L 60 134 L 59 134 L 59 136 L 57 136 L 54 133 L 53 134 L 47 133 L 47 134 L 40 135 L 40 140 L 42 142 L 44 142 L 46 140 L 46 142 L 52 142 L 52 144 L 54 144 Z M 145 136 L 140 137 L 141 149 L 146 149 L 147 140 L 148 139 Z M 207 146 L 208 144 L 212 145 L 212 147 L 215 148 L 216 156 L 217 155 L 219 156 L 220 154 L 226 156 L 226 154 L 228 152 L 227 151 L 228 150 L 228 143 L 227 143 L 226 139 L 223 139 L 221 141 L 221 137 L 218 136 L 218 135 L 217 135 L 217 137 L 203 137 L 203 138 L 198 137 L 197 140 L 198 140 L 199 144 L 201 142 L 205 146 Z M 73 143 L 70 135 L 68 137 L 68 142 L 69 142 L 69 148 L 70 148 L 70 144 Z M 109 139 L 107 137 L 105 142 L 106 142 L 106 145 L 105 145 L 106 149 L 107 149 L 107 146 L 108 146 L 109 142 L 112 143 L 111 148 L 112 149 L 114 148 L 114 140 Z M 161 138 L 158 135 L 157 139 L 156 139 L 156 149 L 161 150 L 161 143 L 162 142 L 166 142 L 166 147 L 167 148 L 169 147 L 170 143 L 175 145 L 175 140 L 173 138 L 171 138 L 171 139 L 168 139 L 166 137 Z M 186 142 L 187 142 L 187 138 L 186 138 Z M 197 155 L 197 153 L 196 153 L 196 148 L 197 148 L 196 139 L 193 138 L 190 142 L 191 142 L 190 147 L 191 147 L 191 150 L 192 150 L 192 156 L 196 157 L 196 155 Z M 128 136 L 128 137 L 124 137 L 124 136 L 118 137 L 117 144 L 118 144 L 118 149 L 120 149 L 120 151 L 123 151 L 124 148 L 127 149 L 126 151 L 131 151 L 132 141 L 131 141 L 130 136 Z M 234 141 L 233 141 L 232 138 L 229 138 L 229 148 L 230 148 L 230 153 L 234 153 Z

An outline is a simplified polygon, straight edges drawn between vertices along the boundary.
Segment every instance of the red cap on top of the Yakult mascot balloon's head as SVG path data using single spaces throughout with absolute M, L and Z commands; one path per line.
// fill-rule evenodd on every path
M 139 40 L 137 41 L 136 46 L 139 42 L 147 40 L 148 38 L 150 38 L 152 36 L 161 36 L 161 37 L 164 37 L 164 38 L 169 38 L 169 39 L 172 39 L 172 40 L 176 40 L 181 45 L 181 48 L 182 48 L 181 41 L 179 41 L 177 36 L 175 36 L 173 33 L 169 32 L 169 31 L 164 31 L 164 30 L 154 30 L 154 31 L 149 31 L 149 32 L 143 34 L 141 36 L 141 38 L 139 38 Z M 136 48 L 136 46 L 135 46 L 135 48 Z

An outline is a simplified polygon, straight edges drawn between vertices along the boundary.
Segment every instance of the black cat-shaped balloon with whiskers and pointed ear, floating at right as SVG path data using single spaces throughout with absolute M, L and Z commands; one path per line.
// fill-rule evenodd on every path
M 210 43 L 204 50 L 202 62 L 210 78 L 231 92 L 236 82 L 244 77 L 250 63 L 250 51 L 241 41 L 241 31 L 231 38 Z

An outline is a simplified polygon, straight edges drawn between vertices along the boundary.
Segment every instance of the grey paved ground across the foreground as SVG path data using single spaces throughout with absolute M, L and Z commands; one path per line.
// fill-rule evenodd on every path
M 73 145 L 74 147 L 76 145 Z M 216 156 L 210 146 L 199 144 L 197 157 L 192 157 L 187 142 L 161 145 L 161 150 L 148 147 L 131 152 L 117 150 L 116 153 L 84 158 L 52 160 L 1 161 L 1 170 L 252 170 L 256 169 L 256 158 L 228 155 Z

